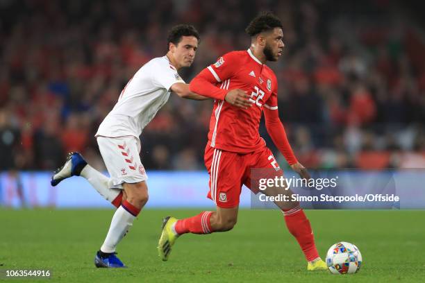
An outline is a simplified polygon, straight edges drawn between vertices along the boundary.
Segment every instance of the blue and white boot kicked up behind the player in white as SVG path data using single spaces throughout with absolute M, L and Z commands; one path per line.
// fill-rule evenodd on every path
M 87 165 L 80 153 L 68 153 L 67 161 L 54 172 L 50 184 L 54 187 L 71 176 L 79 176 L 83 168 Z

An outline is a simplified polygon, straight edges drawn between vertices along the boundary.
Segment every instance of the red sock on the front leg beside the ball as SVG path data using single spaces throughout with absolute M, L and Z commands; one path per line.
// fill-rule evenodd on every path
M 315 237 L 311 230 L 310 221 L 308 221 L 303 209 L 299 206 L 283 212 L 285 215 L 285 223 L 290 233 L 297 239 L 301 250 L 308 261 L 317 259 L 319 253 L 315 245 Z

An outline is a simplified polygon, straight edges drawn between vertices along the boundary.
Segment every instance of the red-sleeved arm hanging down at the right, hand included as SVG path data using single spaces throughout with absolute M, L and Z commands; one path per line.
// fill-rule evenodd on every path
M 273 143 L 285 157 L 288 164 L 290 164 L 292 170 L 299 173 L 301 178 L 306 178 L 307 180 L 310 179 L 310 174 L 307 169 L 298 162 L 297 157 L 294 155 L 294 151 L 292 151 L 292 147 L 288 141 L 288 136 L 286 135 L 285 127 L 279 118 L 277 105 L 272 106 L 265 104 L 264 117 L 265 126 L 269 136 L 272 137 Z

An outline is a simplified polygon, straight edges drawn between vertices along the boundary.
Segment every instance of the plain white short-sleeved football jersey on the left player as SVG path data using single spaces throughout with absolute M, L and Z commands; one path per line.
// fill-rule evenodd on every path
M 170 87 L 185 83 L 167 56 L 153 58 L 128 81 L 113 110 L 103 119 L 97 136 L 139 138 L 143 128 L 168 101 Z

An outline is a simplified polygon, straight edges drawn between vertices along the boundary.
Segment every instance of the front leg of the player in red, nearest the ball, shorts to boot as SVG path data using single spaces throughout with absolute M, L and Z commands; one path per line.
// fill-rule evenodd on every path
M 264 176 L 261 178 L 274 178 L 275 176 L 280 177 L 283 175 L 283 171 L 276 166 L 276 164 L 276 160 L 268 148 L 265 148 L 263 153 L 258 153 L 258 156 L 253 156 L 253 168 L 264 170 Z M 258 179 L 258 176 L 255 176 L 255 178 Z M 248 180 L 249 182 L 245 183 L 245 185 L 251 187 L 253 185 L 251 184 L 251 178 Z M 258 192 L 257 188 L 251 189 L 253 189 L 254 192 Z M 301 209 L 299 202 L 292 200 L 291 196 L 293 192 L 288 188 L 286 182 L 283 182 L 283 186 L 267 187 L 267 189 L 262 192 L 266 196 L 288 196 L 288 201 L 275 201 L 274 203 L 283 212 L 285 224 L 289 232 L 297 239 L 308 261 L 308 270 L 326 270 L 326 264 L 322 261 L 317 252 L 310 221 L 308 221 L 306 214 L 304 214 L 303 209 Z

